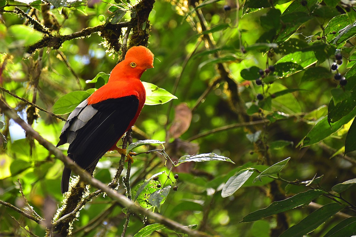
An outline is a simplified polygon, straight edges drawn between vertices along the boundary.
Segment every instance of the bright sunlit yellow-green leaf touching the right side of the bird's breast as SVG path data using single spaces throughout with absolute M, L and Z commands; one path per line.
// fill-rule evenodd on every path
M 146 102 L 145 105 L 160 105 L 178 99 L 176 96 L 169 93 L 167 90 L 159 88 L 155 84 L 142 82 L 146 89 Z

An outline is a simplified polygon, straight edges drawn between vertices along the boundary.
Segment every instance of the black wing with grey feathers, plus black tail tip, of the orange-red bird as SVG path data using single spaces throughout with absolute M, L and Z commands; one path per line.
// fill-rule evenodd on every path
M 69 143 L 68 156 L 88 169 L 125 133 L 137 109 L 138 98 L 134 95 L 91 105 L 83 101 L 69 115 L 57 147 Z M 68 186 L 70 170 L 66 169 L 62 176 L 62 193 L 68 191 L 64 186 Z

